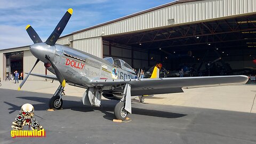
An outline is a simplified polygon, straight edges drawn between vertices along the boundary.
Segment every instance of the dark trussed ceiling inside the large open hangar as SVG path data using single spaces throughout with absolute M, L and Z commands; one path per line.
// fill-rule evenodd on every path
M 210 45 L 234 49 L 237 46 L 254 46 L 255 30 L 256 15 L 252 14 L 118 36 L 104 36 L 103 39 L 115 43 L 114 45 L 129 45 L 149 50 L 169 48 L 172 51 L 181 51 L 180 47 L 187 46 L 182 47 L 184 51 L 206 49 Z

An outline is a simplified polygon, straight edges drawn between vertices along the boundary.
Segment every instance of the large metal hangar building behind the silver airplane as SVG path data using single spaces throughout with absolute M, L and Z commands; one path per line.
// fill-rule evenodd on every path
M 100 58 L 123 59 L 134 68 L 161 62 L 175 70 L 180 63 L 198 65 L 221 57 L 232 69 L 242 69 L 254 67 L 255 36 L 254 0 L 180 0 L 75 31 L 57 43 Z M 28 73 L 34 61 L 29 46 L 0 50 L 0 77 L 15 70 Z M 45 74 L 44 63 L 33 73 Z

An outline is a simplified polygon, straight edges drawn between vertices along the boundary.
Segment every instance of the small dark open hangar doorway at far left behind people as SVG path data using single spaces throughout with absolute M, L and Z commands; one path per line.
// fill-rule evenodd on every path
M 18 71 L 20 74 L 23 71 L 23 55 L 24 51 L 5 53 L 6 58 L 6 69 L 4 71 L 5 78 L 13 76 L 14 71 Z

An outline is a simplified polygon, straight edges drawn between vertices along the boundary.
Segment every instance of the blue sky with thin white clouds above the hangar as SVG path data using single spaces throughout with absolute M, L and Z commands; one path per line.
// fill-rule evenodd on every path
M 172 1 L 1 0 L 0 49 L 33 44 L 25 30 L 28 24 L 45 41 L 69 8 L 74 12 L 61 36 Z

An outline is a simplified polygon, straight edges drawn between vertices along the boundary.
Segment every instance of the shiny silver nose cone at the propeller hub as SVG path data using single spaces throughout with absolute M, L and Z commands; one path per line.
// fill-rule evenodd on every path
M 45 43 L 36 43 L 30 45 L 29 50 L 37 59 L 43 62 L 47 62 L 45 55 L 49 55 L 51 58 L 55 54 L 55 47 Z

